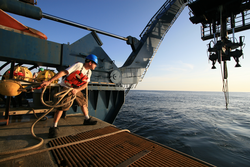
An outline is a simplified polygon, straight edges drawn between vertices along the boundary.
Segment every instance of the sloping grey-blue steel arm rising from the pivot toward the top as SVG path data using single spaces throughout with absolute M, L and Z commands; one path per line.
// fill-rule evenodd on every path
M 141 33 L 141 39 L 127 37 L 132 53 L 120 68 L 122 83 L 137 84 L 145 75 L 161 41 L 186 6 L 186 0 L 167 0 Z

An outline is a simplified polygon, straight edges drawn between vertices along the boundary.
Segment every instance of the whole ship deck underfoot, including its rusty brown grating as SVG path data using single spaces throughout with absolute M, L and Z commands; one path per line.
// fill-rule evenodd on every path
M 34 132 L 44 139 L 41 147 L 0 156 L 0 166 L 213 166 L 177 150 L 148 140 L 94 118 L 97 125 L 83 125 L 83 115 L 61 118 L 59 136 L 48 138 L 52 118 L 36 124 Z M 30 132 L 36 118 L 11 116 L 0 126 L 0 153 L 39 143 Z

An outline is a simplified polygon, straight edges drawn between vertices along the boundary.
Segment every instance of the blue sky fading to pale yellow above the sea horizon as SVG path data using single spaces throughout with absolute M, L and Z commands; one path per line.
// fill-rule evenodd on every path
M 164 0 L 38 0 L 43 13 L 87 25 L 122 37 L 139 35 Z M 47 19 L 40 21 L 10 14 L 22 24 L 44 33 L 49 41 L 73 43 L 90 31 L 64 25 Z M 220 65 L 212 70 L 208 60 L 207 44 L 201 40 L 200 24 L 189 20 L 186 7 L 166 34 L 146 76 L 136 90 L 222 91 Z M 102 48 L 120 67 L 126 61 L 131 47 L 125 41 L 98 34 Z M 231 37 L 232 35 L 229 35 Z M 232 59 L 228 66 L 229 92 L 250 92 L 250 31 L 236 33 L 245 36 L 246 44 L 240 58 L 242 67 L 235 68 Z

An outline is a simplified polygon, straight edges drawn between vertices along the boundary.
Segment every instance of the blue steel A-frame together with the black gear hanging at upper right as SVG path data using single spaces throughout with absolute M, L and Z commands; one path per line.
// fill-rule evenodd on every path
M 186 5 L 193 14 L 190 20 L 194 24 L 202 24 L 202 39 L 214 38 L 214 47 L 209 45 L 208 48 L 213 66 L 216 61 L 224 61 L 226 65 L 225 62 L 230 60 L 230 57 L 234 57 L 237 67 L 240 66 L 242 49 L 237 48 L 241 48 L 243 42 L 228 40 L 227 33 L 234 34 L 249 29 L 249 24 L 245 22 L 247 15 L 244 14 L 244 11 L 250 9 L 249 0 L 167 0 L 142 31 L 140 40 L 131 36 L 120 37 L 42 13 L 40 8 L 32 6 L 34 3 L 31 1 L 0 0 L 0 9 L 38 20 L 43 17 L 92 32 L 69 45 L 35 38 L 0 26 L 0 61 L 7 61 L 3 66 L 11 63 L 13 67 L 15 63 L 25 63 L 34 65 L 34 68 L 43 65 L 55 67 L 60 71 L 77 61 L 84 61 L 89 54 L 98 55 L 99 63 L 93 71 L 88 87 L 89 111 L 90 115 L 109 123 L 115 120 L 126 93 L 142 81 L 165 34 Z M 235 19 L 240 14 L 242 25 L 237 27 Z M 227 30 L 227 20 L 231 21 L 230 30 Z M 207 28 L 209 30 L 206 30 Z M 102 41 L 97 33 L 125 40 L 131 45 L 132 52 L 121 68 L 118 68 L 102 49 Z M 232 51 L 234 49 L 235 51 Z M 70 110 L 78 112 L 80 108 L 72 106 Z

